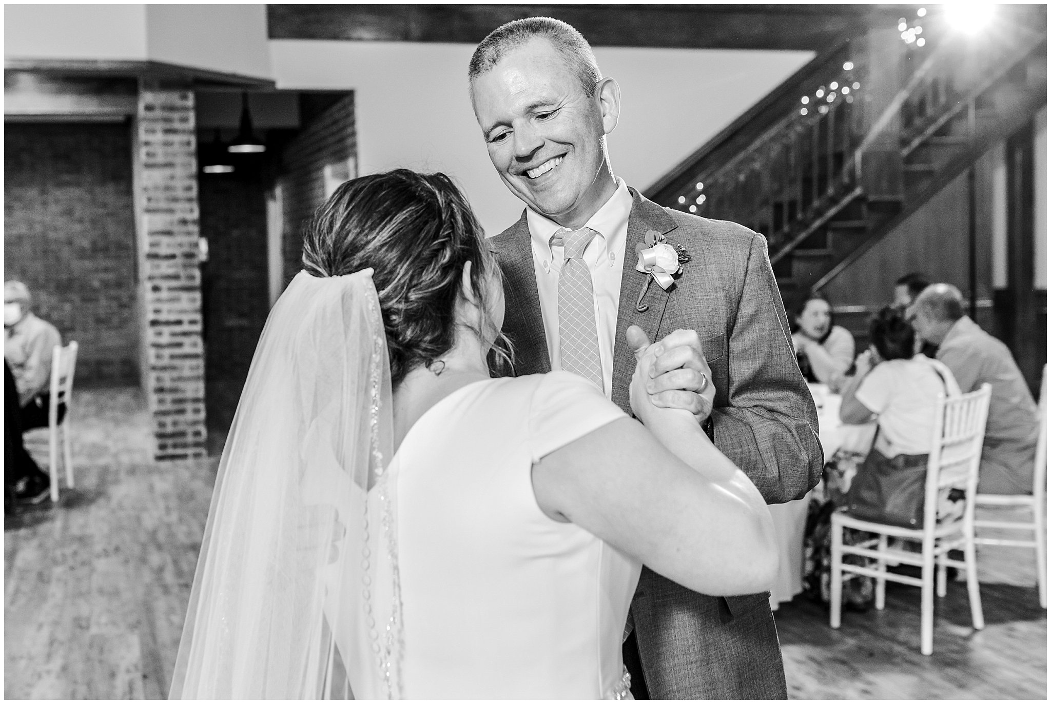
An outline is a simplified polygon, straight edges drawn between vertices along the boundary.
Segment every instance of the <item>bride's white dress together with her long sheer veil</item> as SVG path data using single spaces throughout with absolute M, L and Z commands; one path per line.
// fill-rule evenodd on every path
M 569 374 L 487 379 L 396 452 L 372 270 L 301 272 L 220 461 L 170 699 L 598 699 L 641 566 L 548 518 L 532 467 L 623 417 Z

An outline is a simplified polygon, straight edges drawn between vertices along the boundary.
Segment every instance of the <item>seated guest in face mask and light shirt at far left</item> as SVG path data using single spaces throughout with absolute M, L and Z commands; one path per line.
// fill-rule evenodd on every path
M 54 325 L 29 310 L 29 289 L 6 282 L 4 327 L 4 482 L 17 500 L 39 503 L 47 498 L 49 480 L 22 444 L 22 433 L 47 426 L 51 353 L 62 337 Z M 65 405 L 59 407 L 59 420 Z

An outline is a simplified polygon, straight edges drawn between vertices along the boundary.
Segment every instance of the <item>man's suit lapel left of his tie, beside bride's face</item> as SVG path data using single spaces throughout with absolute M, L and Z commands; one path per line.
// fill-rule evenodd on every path
M 551 371 L 551 358 L 524 210 L 508 234 L 494 242 L 503 272 L 503 333 L 515 347 L 515 376 L 542 374 Z

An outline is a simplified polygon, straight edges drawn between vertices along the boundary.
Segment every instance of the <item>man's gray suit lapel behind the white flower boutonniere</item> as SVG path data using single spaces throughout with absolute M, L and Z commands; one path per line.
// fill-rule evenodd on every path
M 638 264 L 635 246 L 643 242 L 648 230 L 657 230 L 661 234 L 667 234 L 678 227 L 663 208 L 642 198 L 634 188 L 630 190 L 634 205 L 632 205 L 632 213 L 627 219 L 624 269 L 620 279 L 620 304 L 617 308 L 617 336 L 613 345 L 613 402 L 627 414 L 632 412 L 628 388 L 632 384 L 632 374 L 635 373 L 635 354 L 627 347 L 625 332 L 628 327 L 637 325 L 645 331 L 651 341 L 656 341 L 657 331 L 660 329 L 661 318 L 664 317 L 664 308 L 667 305 L 669 293 L 656 283 L 651 283 L 650 289 L 642 298 L 642 303 L 648 308 L 642 313 L 638 311 L 636 306 L 639 293 L 645 286 L 647 275 L 635 270 L 635 265 Z M 672 290 L 675 290 L 674 286 Z

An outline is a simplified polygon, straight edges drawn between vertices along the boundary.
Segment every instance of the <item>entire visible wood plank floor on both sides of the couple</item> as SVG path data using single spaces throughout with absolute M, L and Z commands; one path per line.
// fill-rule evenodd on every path
M 4 696 L 161 699 L 167 693 L 204 532 L 215 459 L 149 461 L 138 392 L 77 393 L 77 488 L 58 506 L 6 517 Z M 1047 619 L 1032 558 L 984 551 L 987 626 L 970 628 L 962 582 L 939 600 L 934 655 L 920 655 L 920 596 L 827 610 L 797 597 L 776 613 L 792 699 L 1045 699 Z

